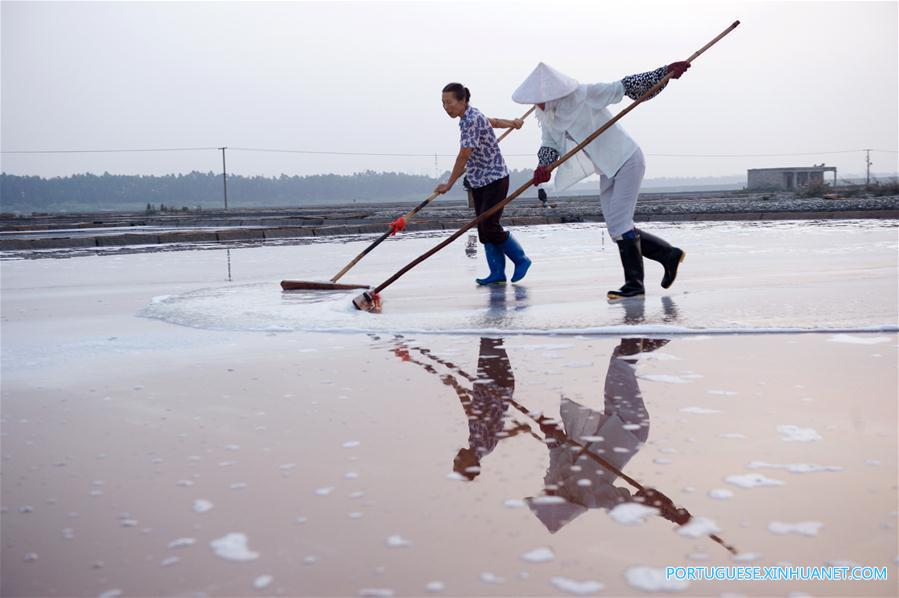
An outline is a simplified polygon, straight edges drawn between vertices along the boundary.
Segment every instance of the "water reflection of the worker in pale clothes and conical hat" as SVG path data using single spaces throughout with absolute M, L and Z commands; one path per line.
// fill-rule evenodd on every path
M 628 488 L 615 486 L 618 474 L 614 469 L 624 469 L 649 436 L 649 414 L 637 384 L 636 362 L 641 353 L 655 351 L 666 343 L 666 339 L 621 339 L 609 360 L 603 411 L 563 397 L 561 421 L 549 420 L 541 425 L 547 438 L 555 440 L 548 443 L 545 492 L 563 500 L 538 497 L 526 502 L 550 532 L 555 533 L 588 509 L 611 509 L 634 500 L 650 503 L 647 499 L 657 496 L 651 490 L 649 497 L 639 492 L 631 495 Z M 669 518 L 665 508 L 661 511 Z

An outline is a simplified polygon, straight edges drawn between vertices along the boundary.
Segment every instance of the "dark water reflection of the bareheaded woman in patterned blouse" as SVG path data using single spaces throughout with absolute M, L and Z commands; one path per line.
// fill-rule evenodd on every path
M 468 416 L 468 448 L 459 449 L 453 470 L 469 480 L 481 471 L 481 460 L 489 455 L 502 438 L 514 436 L 530 428 L 517 424 L 507 430 L 509 403 L 515 392 L 515 376 L 509 357 L 499 338 L 482 338 L 478 355 L 478 374 L 472 381 L 468 400 L 459 395 Z

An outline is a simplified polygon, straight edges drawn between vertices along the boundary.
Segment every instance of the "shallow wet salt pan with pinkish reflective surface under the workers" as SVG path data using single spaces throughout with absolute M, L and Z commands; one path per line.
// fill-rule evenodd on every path
M 380 313 L 278 286 L 368 238 L 4 254 L 3 595 L 896 595 L 895 225 L 647 229 L 687 260 L 623 304 L 598 225 L 515 231 L 506 288 L 461 239 Z

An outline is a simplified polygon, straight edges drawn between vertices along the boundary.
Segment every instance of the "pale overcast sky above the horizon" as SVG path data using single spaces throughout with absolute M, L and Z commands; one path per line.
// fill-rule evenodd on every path
M 2 2 L 2 150 L 243 147 L 228 171 L 276 176 L 451 167 L 450 81 L 511 118 L 538 61 L 581 82 L 687 58 L 734 20 L 678 81 L 621 124 L 646 176 L 745 174 L 826 162 L 897 170 L 896 2 Z M 613 112 L 625 108 L 612 106 Z M 503 141 L 535 165 L 531 119 Z M 809 155 L 795 155 L 808 153 Z M 663 154 L 676 154 L 666 156 Z M 768 157 L 684 155 L 794 154 Z M 2 170 L 221 172 L 221 152 L 2 155 Z

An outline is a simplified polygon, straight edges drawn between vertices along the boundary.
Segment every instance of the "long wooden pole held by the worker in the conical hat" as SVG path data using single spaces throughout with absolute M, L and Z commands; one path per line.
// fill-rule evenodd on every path
M 727 34 L 730 33 L 731 31 L 733 31 L 734 29 L 736 29 L 737 26 L 738 26 L 739 24 L 740 24 L 740 21 L 734 21 L 733 24 L 732 24 L 730 27 L 728 27 L 727 29 L 725 29 L 724 31 L 722 31 L 721 33 L 719 33 L 719 34 L 718 34 L 712 41 L 710 41 L 709 43 L 707 43 L 706 45 L 704 45 L 702 48 L 700 48 L 699 50 L 697 50 L 696 52 L 694 52 L 693 55 L 690 56 L 690 57 L 687 59 L 687 62 L 693 62 L 694 60 L 696 60 L 696 58 L 699 57 L 699 55 L 701 55 L 703 52 L 705 52 L 706 50 L 708 50 L 709 48 L 711 48 L 715 43 L 718 42 L 718 40 L 720 40 L 722 37 L 724 37 L 725 35 L 727 35 Z M 631 110 L 633 110 L 634 108 L 636 108 L 637 106 L 639 106 L 640 104 L 642 104 L 644 101 L 646 101 L 647 99 L 649 99 L 650 97 L 652 97 L 653 95 L 655 95 L 655 93 L 656 93 L 659 89 L 661 89 L 662 86 L 665 85 L 665 84 L 668 82 L 668 80 L 669 80 L 670 78 L 671 78 L 671 73 L 666 74 L 664 77 L 662 77 L 662 79 L 661 79 L 658 83 L 656 83 L 655 85 L 653 85 L 653 86 L 652 86 L 646 93 L 644 93 L 642 96 L 640 96 L 639 99 L 634 100 L 634 102 L 633 102 L 630 106 L 628 106 L 627 108 L 625 108 L 624 110 L 622 110 L 621 112 L 619 112 L 617 115 L 615 115 L 615 117 L 612 118 L 612 120 L 610 120 L 609 122 L 607 122 L 606 124 L 604 124 L 603 126 L 601 126 L 600 128 L 598 128 L 596 131 L 594 131 L 593 133 L 591 133 L 589 137 L 587 137 L 587 138 L 584 139 L 582 142 L 580 142 L 580 143 L 579 143 L 577 146 L 575 146 L 575 148 L 572 149 L 570 152 L 568 152 L 567 154 L 565 154 L 564 156 L 562 156 L 561 158 L 559 158 L 558 160 L 556 160 L 555 162 L 553 162 L 552 164 L 550 164 L 550 165 L 547 167 L 547 169 L 549 170 L 549 172 L 552 172 L 553 170 L 555 170 L 556 168 L 558 168 L 562 163 L 564 163 L 566 160 L 568 160 L 568 159 L 571 158 L 573 155 L 575 155 L 576 153 L 578 153 L 579 151 L 581 151 L 582 149 L 584 149 L 585 147 L 587 147 L 588 144 L 590 144 L 594 139 L 596 139 L 597 137 L 599 137 L 600 135 L 602 135 L 606 130 L 609 129 L 609 127 L 611 127 L 611 126 L 614 125 L 616 122 L 618 122 L 619 120 L 621 120 L 621 119 L 624 117 L 625 114 L 627 114 L 628 112 L 630 112 Z M 400 276 L 402 276 L 403 274 L 405 274 L 406 272 L 408 272 L 409 270 L 411 270 L 412 268 L 414 268 L 415 266 L 417 266 L 419 263 L 421 263 L 421 262 L 423 262 L 424 260 L 428 259 L 429 257 L 431 257 L 432 255 L 434 255 L 435 253 L 437 253 L 438 251 L 440 251 L 441 249 L 443 249 L 444 247 L 446 247 L 447 245 L 449 245 L 450 243 L 452 243 L 452 242 L 455 241 L 456 239 L 458 239 L 458 238 L 459 238 L 465 231 L 467 231 L 468 229 L 470 229 L 470 228 L 472 228 L 472 227 L 474 227 L 474 226 L 477 226 L 477 224 L 478 224 L 479 222 L 481 222 L 482 220 L 484 220 L 484 219 L 486 219 L 486 218 L 489 218 L 489 217 L 492 216 L 493 214 L 497 213 L 499 210 L 501 210 L 501 209 L 503 209 L 504 207 L 506 207 L 506 205 L 507 205 L 510 201 L 512 201 L 513 199 L 515 199 L 516 197 L 518 197 L 519 195 L 521 195 L 522 193 L 524 193 L 525 191 L 527 191 L 527 189 L 528 189 L 532 184 L 533 184 L 533 181 L 528 181 L 527 183 L 523 184 L 521 187 L 519 187 L 518 189 L 516 189 L 511 195 L 509 195 L 508 197 L 506 197 L 506 199 L 502 200 L 501 202 L 499 202 L 498 204 L 496 204 L 495 206 L 493 206 L 492 208 L 490 208 L 489 210 L 487 210 L 486 212 L 484 212 L 483 214 L 481 214 L 480 216 L 478 216 L 477 218 L 475 218 L 474 220 L 472 220 L 471 222 L 469 222 L 468 224 L 466 224 L 465 226 L 463 226 L 462 228 L 460 228 L 458 231 L 456 231 L 455 233 L 453 233 L 448 239 L 444 240 L 443 242 L 441 242 L 440 244 L 438 244 L 437 246 L 435 246 L 433 249 L 427 251 L 426 253 L 420 255 L 420 256 L 417 257 L 416 259 L 414 259 L 414 260 L 412 260 L 411 262 L 409 262 L 409 263 L 408 263 L 406 266 L 404 266 L 399 272 L 397 272 L 396 274 L 394 274 L 393 276 L 391 276 L 390 278 L 388 278 L 387 280 L 385 280 L 384 282 L 382 282 L 381 284 L 379 284 L 379 285 L 378 285 L 377 287 L 375 287 L 372 291 L 367 291 L 367 292 L 363 293 L 362 295 L 360 295 L 359 297 L 357 297 L 357 298 L 353 301 L 353 305 L 355 305 L 358 309 L 365 309 L 366 306 L 372 306 L 373 303 L 374 303 L 374 297 L 375 297 L 378 293 L 380 293 L 381 291 L 383 291 L 384 289 L 386 289 L 388 286 L 390 286 L 391 284 L 393 284 L 393 283 L 394 283 Z

